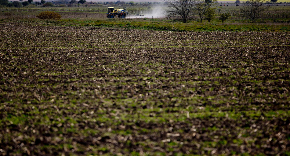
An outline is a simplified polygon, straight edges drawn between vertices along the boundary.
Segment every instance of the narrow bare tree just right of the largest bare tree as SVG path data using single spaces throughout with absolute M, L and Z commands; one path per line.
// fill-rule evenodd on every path
M 214 8 L 217 0 L 198 0 L 196 3 L 196 12 L 199 16 L 200 23 L 202 22 L 205 13 L 209 8 Z

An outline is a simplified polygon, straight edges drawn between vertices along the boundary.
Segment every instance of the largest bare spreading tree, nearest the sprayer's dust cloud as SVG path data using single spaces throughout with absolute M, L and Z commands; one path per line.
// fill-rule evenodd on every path
M 186 23 L 187 20 L 193 17 L 196 0 L 165 0 L 165 5 L 168 9 L 166 14 L 169 19 L 182 20 Z

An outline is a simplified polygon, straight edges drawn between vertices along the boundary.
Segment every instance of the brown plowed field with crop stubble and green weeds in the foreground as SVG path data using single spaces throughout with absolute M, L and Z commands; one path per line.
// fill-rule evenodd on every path
M 0 27 L 0 155 L 289 154 L 289 32 Z

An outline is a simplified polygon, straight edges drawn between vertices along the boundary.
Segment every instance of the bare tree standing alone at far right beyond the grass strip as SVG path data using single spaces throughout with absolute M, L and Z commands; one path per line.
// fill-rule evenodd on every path
M 244 16 L 250 20 L 255 20 L 263 13 L 264 10 L 268 9 L 269 6 L 263 6 L 265 0 L 248 0 L 248 3 L 241 8 L 241 12 Z

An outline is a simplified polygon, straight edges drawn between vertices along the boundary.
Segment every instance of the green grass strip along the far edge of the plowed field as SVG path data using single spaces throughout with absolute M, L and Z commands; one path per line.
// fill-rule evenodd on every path
M 284 21 L 285 19 L 280 19 Z M 34 21 L 34 20 L 33 20 Z M 37 21 L 36 21 L 37 23 Z M 138 29 L 153 29 L 153 30 L 168 30 L 168 31 L 290 31 L 290 25 L 284 24 L 269 24 L 269 23 L 220 23 L 219 20 L 212 20 L 211 23 L 200 23 L 191 21 L 170 22 L 157 19 L 103 19 L 103 20 L 47 20 L 48 25 L 61 26 L 101 26 L 101 27 L 122 27 L 122 28 L 138 28 Z

